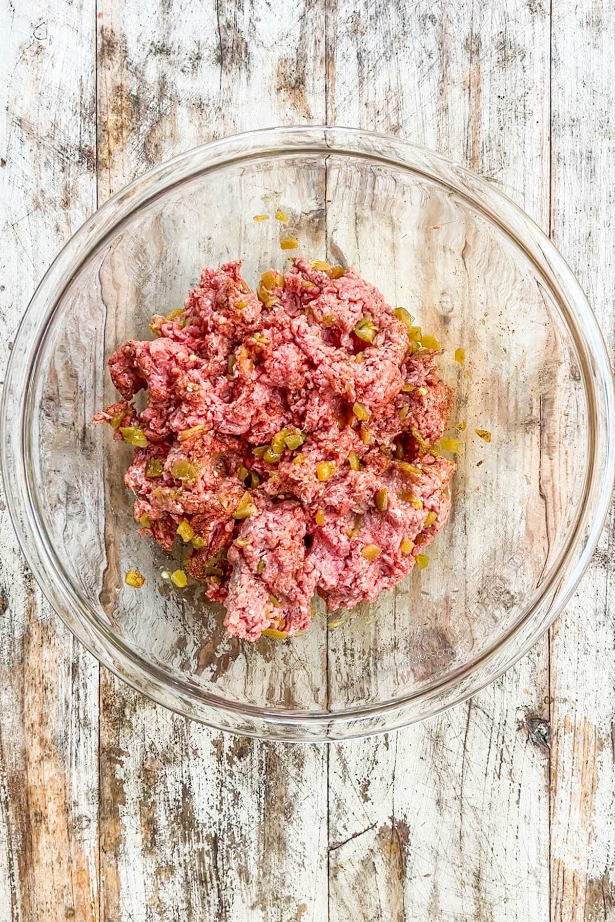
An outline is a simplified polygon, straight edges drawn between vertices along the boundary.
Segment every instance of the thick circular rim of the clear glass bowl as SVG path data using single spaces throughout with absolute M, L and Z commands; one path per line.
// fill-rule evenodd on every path
M 35 377 L 41 343 L 53 321 L 58 301 L 92 251 L 103 246 L 137 210 L 198 175 L 242 160 L 301 153 L 321 156 L 338 153 L 423 173 L 425 177 L 450 186 L 453 193 L 471 202 L 498 225 L 537 267 L 556 297 L 585 374 L 585 399 L 588 401 L 590 453 L 577 521 L 571 527 L 565 547 L 550 564 L 550 579 L 532 606 L 508 632 L 444 680 L 436 680 L 396 699 L 339 711 L 290 711 L 226 700 L 199 690 L 189 680 L 174 679 L 163 668 L 130 650 L 93 612 L 89 612 L 87 606 L 84 608 L 74 586 L 65 579 L 50 542 L 45 540 L 28 473 L 27 423 L 33 391 L 30 384 Z M 289 740 L 301 739 L 300 728 L 307 730 L 309 739 L 350 738 L 374 732 L 368 727 L 374 716 L 397 713 L 398 723 L 394 717 L 392 723 L 376 727 L 376 730 L 385 730 L 424 719 L 465 700 L 524 656 L 562 611 L 585 572 L 608 514 L 615 479 L 614 405 L 609 355 L 584 292 L 549 238 L 503 192 L 441 154 L 393 136 L 335 125 L 273 127 L 219 138 L 161 163 L 112 195 L 66 242 L 35 290 L 15 337 L 0 411 L 0 464 L 9 514 L 30 569 L 53 609 L 103 666 L 154 701 L 209 726 Z M 579 553 L 580 541 L 583 544 Z M 574 550 L 578 559 L 566 573 Z M 541 610 L 545 605 L 546 609 Z M 507 656 L 499 656 L 504 649 Z M 474 682 L 472 676 L 476 676 Z M 464 680 L 467 680 L 465 686 Z M 438 703 L 438 696 L 443 692 L 449 697 L 444 703 Z M 431 702 L 434 706 L 423 706 L 424 713 L 404 711 L 408 705 L 418 702 L 423 705 Z M 241 718 L 239 726 L 238 717 Z M 247 721 L 245 726 L 242 721 Z

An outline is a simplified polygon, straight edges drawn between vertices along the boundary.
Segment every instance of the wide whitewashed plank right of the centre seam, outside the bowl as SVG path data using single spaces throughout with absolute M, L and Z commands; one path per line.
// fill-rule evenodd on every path
M 549 11 L 329 4 L 329 122 L 437 148 L 549 226 Z M 329 753 L 329 912 L 549 918 L 548 647 L 472 702 Z

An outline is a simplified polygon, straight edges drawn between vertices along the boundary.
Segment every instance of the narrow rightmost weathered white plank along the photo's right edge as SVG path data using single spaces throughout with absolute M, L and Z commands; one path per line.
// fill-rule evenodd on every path
M 553 240 L 615 348 L 615 8 L 553 6 Z M 588 69 L 589 67 L 589 69 Z M 551 630 L 551 920 L 615 919 L 615 521 Z

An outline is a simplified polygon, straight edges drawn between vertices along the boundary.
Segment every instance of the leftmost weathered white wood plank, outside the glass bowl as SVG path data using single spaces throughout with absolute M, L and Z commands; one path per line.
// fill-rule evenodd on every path
M 0 366 L 53 256 L 96 207 L 95 4 L 3 4 Z M 98 664 L 49 606 L 0 512 L 0 919 L 94 922 Z

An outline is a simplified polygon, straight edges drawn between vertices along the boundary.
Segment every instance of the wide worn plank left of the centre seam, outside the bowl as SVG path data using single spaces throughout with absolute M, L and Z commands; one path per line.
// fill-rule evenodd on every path
M 99 191 L 325 119 L 324 10 L 99 0 Z M 326 751 L 223 737 L 101 679 L 101 918 L 326 918 Z

